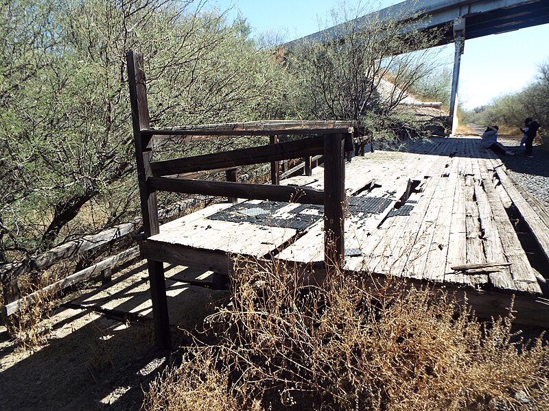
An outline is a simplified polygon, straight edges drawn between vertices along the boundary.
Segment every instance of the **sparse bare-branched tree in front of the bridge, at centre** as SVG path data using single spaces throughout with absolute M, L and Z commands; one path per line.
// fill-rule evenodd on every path
M 303 93 L 298 104 L 306 116 L 380 119 L 393 113 L 414 82 L 428 72 L 425 52 L 407 52 L 428 48 L 435 39 L 404 32 L 400 16 L 366 20 L 365 9 L 363 3 L 353 10 L 341 6 L 323 40 L 295 45 L 290 51 L 291 68 Z

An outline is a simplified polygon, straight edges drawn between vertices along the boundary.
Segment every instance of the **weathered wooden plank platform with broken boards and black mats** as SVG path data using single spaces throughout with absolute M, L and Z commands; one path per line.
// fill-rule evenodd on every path
M 479 142 L 473 136 L 436 138 L 398 151 L 376 150 L 347 163 L 344 268 L 541 294 L 539 275 L 506 210 L 512 204 L 519 210 L 549 261 L 547 227 L 502 162 L 480 149 Z M 312 176 L 281 184 L 321 189 L 323 176 L 320 166 Z M 216 204 L 162 225 L 144 242 L 145 258 L 221 273 L 230 271 L 228 255 L 233 253 L 320 264 L 321 208 L 259 200 Z

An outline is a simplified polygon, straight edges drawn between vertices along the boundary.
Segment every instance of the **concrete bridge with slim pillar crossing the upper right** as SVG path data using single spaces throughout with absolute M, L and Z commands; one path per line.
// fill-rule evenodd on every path
M 406 0 L 388 8 L 357 18 L 359 25 L 370 21 L 399 18 L 408 29 L 442 29 L 438 45 L 454 42 L 454 75 L 450 118 L 454 118 L 460 56 L 466 38 L 478 38 L 549 23 L 549 0 Z M 419 21 L 419 27 L 418 22 Z M 335 38 L 338 26 L 299 38 L 287 47 L 301 42 Z

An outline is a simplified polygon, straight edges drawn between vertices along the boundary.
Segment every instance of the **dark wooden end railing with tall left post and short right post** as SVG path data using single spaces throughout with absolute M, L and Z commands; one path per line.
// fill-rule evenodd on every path
M 159 234 L 157 191 L 323 204 L 325 266 L 327 271 L 330 271 L 331 268 L 342 265 L 344 258 L 343 142 L 353 132 L 355 124 L 348 121 L 257 121 L 153 129 L 150 125 L 143 55 L 129 51 L 126 62 L 145 238 Z M 308 138 L 291 142 L 278 141 L 277 136 L 290 135 Z M 188 158 L 154 161 L 153 141 L 161 141 L 163 138 L 178 140 L 176 138 L 178 136 L 200 136 L 202 139 L 219 136 L 269 136 L 270 144 Z M 306 158 L 305 170 L 310 173 L 310 158 L 314 155 L 324 156 L 324 190 L 277 185 L 278 161 Z M 211 182 L 182 177 L 186 173 L 261 163 L 271 164 L 271 178 L 274 184 Z M 148 271 L 156 340 L 161 347 L 167 348 L 170 347 L 171 342 L 163 262 L 149 259 Z

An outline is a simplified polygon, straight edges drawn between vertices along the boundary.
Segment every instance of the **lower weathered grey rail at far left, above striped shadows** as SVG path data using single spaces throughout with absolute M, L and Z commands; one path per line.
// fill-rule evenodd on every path
M 4 314 L 5 316 L 15 314 L 16 312 L 23 310 L 23 308 L 30 306 L 30 304 L 34 303 L 34 301 L 38 301 L 41 296 L 50 297 L 51 295 L 56 295 L 58 292 L 65 290 L 65 288 L 68 288 L 69 286 L 73 286 L 84 279 L 95 277 L 97 275 L 103 275 L 106 270 L 110 270 L 115 266 L 124 264 L 124 262 L 128 262 L 132 260 L 132 258 L 139 257 L 139 255 L 139 247 L 132 247 L 126 251 L 122 251 L 116 256 L 107 258 L 97 264 L 93 264 L 93 266 L 89 266 L 87 269 L 71 274 L 45 288 L 42 288 L 41 290 L 33 292 L 30 295 L 26 295 L 17 301 L 6 304 L 4 306 Z

